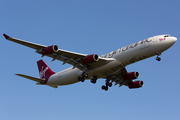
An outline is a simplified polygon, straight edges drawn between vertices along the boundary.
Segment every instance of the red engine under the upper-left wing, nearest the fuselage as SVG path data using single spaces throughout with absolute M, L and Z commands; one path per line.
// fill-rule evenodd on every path
M 83 64 L 97 62 L 99 60 L 99 56 L 97 54 L 88 55 L 84 59 L 82 59 Z

